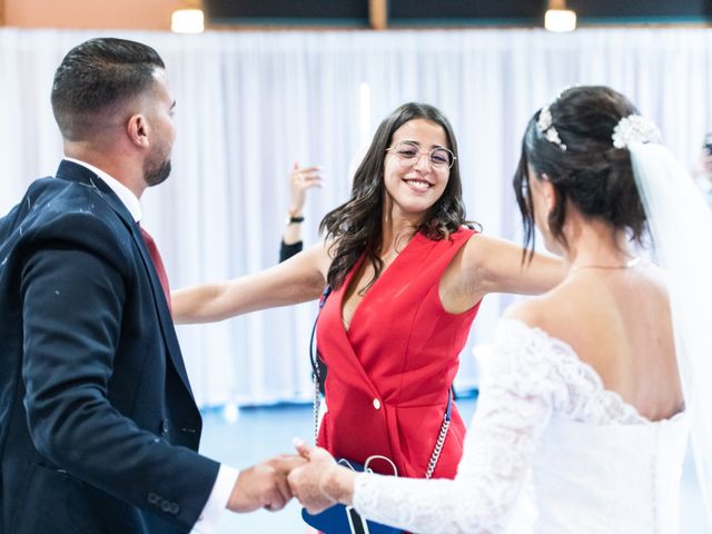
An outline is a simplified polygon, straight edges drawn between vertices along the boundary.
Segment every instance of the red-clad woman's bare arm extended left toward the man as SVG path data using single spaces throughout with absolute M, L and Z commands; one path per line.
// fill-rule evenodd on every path
M 328 245 L 319 243 L 269 269 L 171 293 L 177 324 L 212 323 L 257 309 L 319 297 L 330 265 Z

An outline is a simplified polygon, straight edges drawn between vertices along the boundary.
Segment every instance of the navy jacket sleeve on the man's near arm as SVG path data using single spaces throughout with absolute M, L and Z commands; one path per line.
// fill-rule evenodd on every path
M 101 224 L 83 225 L 91 243 L 46 237 L 23 261 L 22 376 L 32 442 L 72 476 L 138 507 L 156 513 L 147 500 L 165 496 L 170 506 L 161 515 L 187 532 L 210 495 L 219 464 L 140 428 L 110 398 L 117 365 L 131 366 L 137 383 L 162 390 L 166 377 L 147 376 L 144 367 L 155 367 L 140 362 L 165 355 L 141 350 L 146 336 L 160 334 L 150 333 L 151 323 L 144 329 L 137 323 L 138 347 L 134 359 L 126 359 L 119 345 L 126 343 L 121 332 L 132 280 L 120 259 L 129 258 Z M 142 409 L 154 415 L 161 409 L 156 406 L 160 403 Z

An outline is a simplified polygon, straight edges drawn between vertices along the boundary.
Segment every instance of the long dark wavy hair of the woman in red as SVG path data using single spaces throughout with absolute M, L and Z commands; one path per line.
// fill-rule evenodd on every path
M 354 176 L 350 199 L 326 214 L 319 230 L 336 247 L 334 260 L 329 267 L 327 280 L 334 288 L 340 287 L 347 273 L 354 267 L 362 254 L 374 266 L 374 278 L 383 269 L 378 251 L 383 245 L 382 211 L 386 188 L 384 184 L 384 161 L 386 149 L 390 146 L 393 134 L 411 120 L 425 119 L 445 130 L 447 148 L 457 158 L 455 134 L 445 116 L 427 103 L 404 103 L 387 117 L 374 136 L 370 147 Z M 449 179 L 441 198 L 427 210 L 417 231 L 431 239 L 446 238 L 465 222 L 465 206 L 462 198 L 462 180 L 458 159 L 449 169 Z

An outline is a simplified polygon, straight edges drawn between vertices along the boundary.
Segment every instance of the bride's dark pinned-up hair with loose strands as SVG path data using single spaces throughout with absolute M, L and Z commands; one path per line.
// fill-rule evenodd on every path
M 556 206 L 548 214 L 548 228 L 567 247 L 563 235 L 566 202 L 571 201 L 586 217 L 610 222 L 630 231 L 642 243 L 646 229 L 631 154 L 613 147 L 613 128 L 623 117 L 637 113 L 627 98 L 602 86 L 565 90 L 548 107 L 563 150 L 547 140 L 536 122 L 542 110 L 530 119 L 522 140 L 522 156 L 513 179 L 516 201 L 524 225 L 524 246 L 534 247 L 534 205 L 527 168 L 545 174 L 556 191 Z

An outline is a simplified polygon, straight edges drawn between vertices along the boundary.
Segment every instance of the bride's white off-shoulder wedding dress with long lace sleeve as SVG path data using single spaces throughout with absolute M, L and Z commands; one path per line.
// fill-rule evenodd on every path
M 688 425 L 650 422 L 571 346 L 502 320 L 454 481 L 362 474 L 365 517 L 422 533 L 674 533 Z

